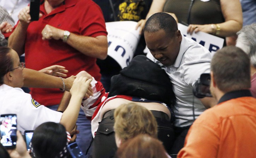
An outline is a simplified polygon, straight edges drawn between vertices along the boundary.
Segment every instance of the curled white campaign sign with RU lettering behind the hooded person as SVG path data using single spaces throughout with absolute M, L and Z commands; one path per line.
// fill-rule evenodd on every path
M 128 66 L 136 50 L 140 35 L 135 30 L 137 22 L 106 22 L 108 32 L 108 55 L 123 69 Z

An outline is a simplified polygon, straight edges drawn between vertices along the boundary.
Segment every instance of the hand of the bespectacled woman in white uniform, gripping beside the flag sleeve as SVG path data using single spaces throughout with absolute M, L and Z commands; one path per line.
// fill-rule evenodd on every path
M 88 87 L 93 79 L 87 77 L 77 77 L 70 89 L 71 95 L 83 98 L 88 91 Z

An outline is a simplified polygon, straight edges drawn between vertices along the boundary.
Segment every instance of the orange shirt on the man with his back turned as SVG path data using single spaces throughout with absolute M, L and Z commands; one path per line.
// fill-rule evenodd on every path
M 255 158 L 256 98 L 226 99 L 203 112 L 187 133 L 181 157 Z

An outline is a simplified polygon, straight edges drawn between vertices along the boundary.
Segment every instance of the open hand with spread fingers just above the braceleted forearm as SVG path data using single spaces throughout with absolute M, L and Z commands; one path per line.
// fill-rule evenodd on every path
M 66 77 L 67 75 L 64 73 L 69 72 L 68 70 L 65 70 L 64 66 L 60 66 L 60 65 L 49 66 L 39 71 L 42 73 L 46 73 L 52 76 L 59 76 L 59 77 Z

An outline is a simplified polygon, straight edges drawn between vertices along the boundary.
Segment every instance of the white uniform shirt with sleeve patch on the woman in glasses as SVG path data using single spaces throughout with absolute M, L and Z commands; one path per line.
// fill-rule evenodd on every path
M 0 114 L 17 114 L 17 129 L 34 130 L 44 122 L 59 123 L 62 113 L 37 103 L 21 88 L 0 86 Z

